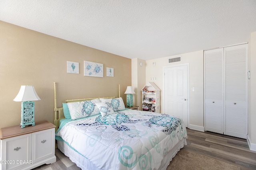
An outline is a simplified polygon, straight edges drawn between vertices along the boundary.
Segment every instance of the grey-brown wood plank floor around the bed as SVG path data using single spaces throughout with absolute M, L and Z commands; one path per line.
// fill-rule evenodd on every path
M 241 170 L 256 170 L 256 152 L 250 151 L 246 139 L 212 132 L 187 129 L 188 139 L 184 149 L 239 166 Z M 81 170 L 60 150 L 56 149 L 57 161 L 34 170 Z

